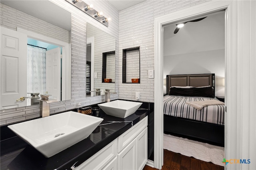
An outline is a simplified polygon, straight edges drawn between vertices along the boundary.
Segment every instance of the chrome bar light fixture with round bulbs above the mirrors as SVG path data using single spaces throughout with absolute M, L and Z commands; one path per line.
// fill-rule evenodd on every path
M 73 6 L 75 6 L 76 8 L 82 10 L 84 13 L 88 14 L 98 22 L 108 27 L 108 22 L 110 21 L 110 19 L 103 16 L 102 12 L 98 12 L 94 10 L 92 4 L 88 5 L 82 0 L 66 0 L 66 1 L 72 4 Z

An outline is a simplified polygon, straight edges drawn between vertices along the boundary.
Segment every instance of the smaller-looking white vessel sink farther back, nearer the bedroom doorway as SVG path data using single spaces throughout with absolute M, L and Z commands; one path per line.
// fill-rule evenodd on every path
M 140 102 L 115 100 L 98 104 L 107 115 L 126 118 L 132 115 L 142 105 Z

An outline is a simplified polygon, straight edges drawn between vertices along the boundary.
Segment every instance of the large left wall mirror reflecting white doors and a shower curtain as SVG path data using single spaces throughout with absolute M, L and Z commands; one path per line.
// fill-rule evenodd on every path
M 39 104 L 38 93 L 70 100 L 71 13 L 50 1 L 1 0 L 1 4 L 18 24 L 10 22 L 9 29 L 1 23 L 1 41 L 6 43 L 1 46 L 0 109 Z

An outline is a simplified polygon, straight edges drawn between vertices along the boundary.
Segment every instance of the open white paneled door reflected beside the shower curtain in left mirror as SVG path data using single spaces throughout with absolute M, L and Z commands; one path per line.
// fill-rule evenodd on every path
M 46 51 L 46 91 L 50 98 L 60 101 L 60 47 Z

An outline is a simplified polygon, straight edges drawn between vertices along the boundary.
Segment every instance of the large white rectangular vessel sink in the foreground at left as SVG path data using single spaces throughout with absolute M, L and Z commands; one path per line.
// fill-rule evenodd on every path
M 98 117 L 69 111 L 8 128 L 49 158 L 87 138 L 102 121 Z

